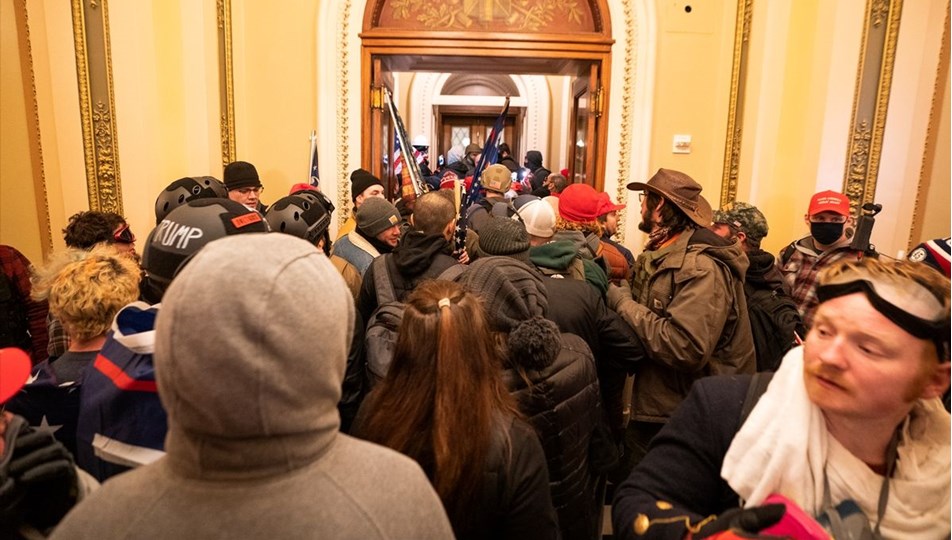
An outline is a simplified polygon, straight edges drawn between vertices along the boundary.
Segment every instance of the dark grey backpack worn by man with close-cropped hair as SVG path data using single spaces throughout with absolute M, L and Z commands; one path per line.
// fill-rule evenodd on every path
M 377 290 L 377 309 L 370 314 L 367 321 L 367 333 L 364 335 L 364 352 L 367 358 L 367 379 L 370 387 L 383 380 L 390 370 L 393 353 L 397 347 L 397 331 L 403 321 L 403 311 L 406 305 L 397 300 L 396 289 L 393 286 L 393 276 L 387 265 L 390 257 L 383 256 L 374 259 L 374 288 Z M 434 279 L 453 281 L 466 269 L 461 264 L 454 264 L 440 273 Z

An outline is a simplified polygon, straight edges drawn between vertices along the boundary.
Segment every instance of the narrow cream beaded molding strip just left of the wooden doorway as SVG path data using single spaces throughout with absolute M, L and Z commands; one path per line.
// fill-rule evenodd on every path
M 351 0 L 340 4 L 340 25 L 337 34 L 337 225 L 343 225 L 350 216 L 350 107 L 347 90 L 350 87 L 350 58 L 347 39 L 350 34 Z

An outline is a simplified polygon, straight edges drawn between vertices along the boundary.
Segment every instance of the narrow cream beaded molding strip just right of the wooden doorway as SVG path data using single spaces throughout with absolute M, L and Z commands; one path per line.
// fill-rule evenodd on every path
M 633 124 L 632 93 L 635 81 L 635 8 L 633 2 L 622 2 L 622 14 L 624 17 L 625 28 L 625 59 L 622 61 L 621 77 L 621 137 L 619 138 L 618 148 L 618 186 L 615 190 L 615 200 L 620 204 L 628 204 L 628 182 L 625 180 L 631 175 L 631 130 Z M 625 241 L 625 220 L 628 219 L 628 209 L 618 213 L 618 237 L 619 242 Z

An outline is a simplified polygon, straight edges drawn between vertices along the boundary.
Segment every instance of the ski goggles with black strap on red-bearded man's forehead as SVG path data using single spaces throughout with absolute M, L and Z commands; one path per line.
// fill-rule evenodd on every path
M 932 341 L 940 360 L 949 355 L 949 304 L 911 279 L 852 268 L 819 285 L 820 302 L 861 292 L 873 308 L 919 339 Z

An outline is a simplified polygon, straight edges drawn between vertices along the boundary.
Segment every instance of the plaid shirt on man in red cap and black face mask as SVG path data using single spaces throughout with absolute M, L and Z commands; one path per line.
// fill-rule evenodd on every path
M 849 242 L 848 239 L 844 239 L 836 247 L 817 252 L 813 249 L 811 237 L 808 236 L 791 244 L 794 249 L 789 259 L 783 260 L 783 254 L 789 246 L 784 248 L 777 257 L 777 266 L 783 273 L 784 287 L 797 303 L 797 309 L 803 317 L 803 326 L 807 331 L 813 326 L 813 315 L 819 304 L 816 297 L 816 282 L 820 272 L 838 261 L 850 257 L 859 259 L 863 256 L 862 251 L 850 249 Z

